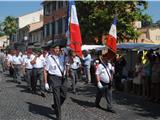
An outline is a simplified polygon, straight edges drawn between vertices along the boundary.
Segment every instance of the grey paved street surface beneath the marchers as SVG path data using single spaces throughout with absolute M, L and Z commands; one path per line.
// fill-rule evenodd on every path
M 69 91 L 62 106 L 62 120 L 160 120 L 160 104 L 113 91 L 114 114 L 106 112 L 104 98 L 104 109 L 94 107 L 95 93 L 95 86 L 78 82 L 78 94 Z M 26 90 L 25 81 L 18 85 L 7 73 L 0 73 L 0 120 L 55 120 L 51 104 L 51 93 L 45 98 L 32 94 Z

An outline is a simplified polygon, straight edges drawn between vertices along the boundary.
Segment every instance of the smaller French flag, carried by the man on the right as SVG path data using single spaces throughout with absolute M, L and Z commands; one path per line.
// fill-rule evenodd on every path
M 117 51 L 117 30 L 116 30 L 116 17 L 114 17 L 113 24 L 111 25 L 109 35 L 107 36 L 107 43 L 106 45 L 114 52 Z

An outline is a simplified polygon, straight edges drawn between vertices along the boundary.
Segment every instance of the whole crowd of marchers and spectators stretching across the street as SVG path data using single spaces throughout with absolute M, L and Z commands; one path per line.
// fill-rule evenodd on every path
M 97 53 L 97 54 L 95 54 Z M 61 105 L 66 99 L 67 82 L 70 80 L 73 94 L 77 94 L 77 82 L 93 83 L 97 86 L 95 106 L 99 105 L 103 95 L 107 101 L 107 110 L 115 113 L 112 108 L 112 86 L 122 90 L 122 79 L 126 78 L 123 69 L 127 61 L 123 55 L 115 55 L 109 59 L 100 52 L 83 51 L 83 56 L 77 56 L 75 51 L 61 48 L 54 44 L 47 50 L 41 48 L 0 52 L 0 72 L 9 71 L 9 75 L 17 84 L 26 81 L 26 88 L 33 94 L 45 97 L 46 91 L 51 91 L 54 97 L 52 108 L 58 120 L 61 119 Z M 129 73 L 128 73 L 129 75 Z M 85 76 L 85 77 L 84 77 Z M 147 100 L 160 101 L 160 54 L 154 51 L 138 53 L 131 89 L 137 95 Z M 39 81 L 39 84 L 37 82 Z

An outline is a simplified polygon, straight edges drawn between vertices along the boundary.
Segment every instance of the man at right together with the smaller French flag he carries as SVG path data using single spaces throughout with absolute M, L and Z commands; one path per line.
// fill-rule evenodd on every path
M 102 52 L 102 56 L 100 57 L 101 63 L 96 69 L 98 92 L 95 100 L 95 106 L 101 108 L 99 103 L 102 96 L 105 95 L 107 101 L 107 111 L 112 113 L 116 113 L 112 106 L 112 80 L 115 70 L 114 66 L 112 66 L 109 60 L 112 60 L 115 56 L 117 50 L 116 39 L 116 18 L 114 18 L 114 23 L 111 26 L 106 42 L 106 45 L 108 46 L 108 52 Z

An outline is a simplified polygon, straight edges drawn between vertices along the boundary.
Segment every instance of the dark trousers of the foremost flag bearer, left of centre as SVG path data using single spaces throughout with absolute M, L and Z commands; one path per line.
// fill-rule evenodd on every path
M 49 83 L 53 92 L 55 113 L 58 120 L 61 120 L 61 105 L 67 96 L 66 81 L 62 77 L 49 75 Z

